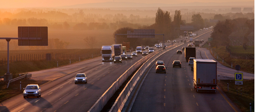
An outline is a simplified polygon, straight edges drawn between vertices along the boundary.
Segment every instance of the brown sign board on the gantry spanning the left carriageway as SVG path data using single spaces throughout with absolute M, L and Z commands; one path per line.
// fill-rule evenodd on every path
M 155 38 L 155 29 L 134 29 L 127 31 L 127 38 Z

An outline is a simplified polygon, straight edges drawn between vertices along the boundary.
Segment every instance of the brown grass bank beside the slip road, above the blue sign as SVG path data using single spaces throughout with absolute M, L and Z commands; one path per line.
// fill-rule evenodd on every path
M 212 48 L 212 51 L 213 51 L 213 53 L 211 53 L 212 56 L 222 65 L 231 68 L 231 64 L 233 63 L 233 67 L 232 67 L 233 69 L 235 69 L 236 65 L 240 65 L 241 66 L 240 71 L 254 73 L 254 60 L 231 58 L 230 54 L 226 51 L 225 46 L 218 47 L 216 49 Z M 224 63 L 222 63 L 223 58 L 224 58 Z

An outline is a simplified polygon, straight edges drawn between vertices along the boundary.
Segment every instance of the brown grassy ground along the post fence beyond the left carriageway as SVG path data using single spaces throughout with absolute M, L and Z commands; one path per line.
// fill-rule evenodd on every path
M 85 59 L 81 58 L 81 61 L 86 59 L 91 59 L 91 54 L 97 53 L 97 55 L 94 55 L 93 58 L 96 58 L 96 56 L 101 56 L 100 49 L 59 49 L 59 50 L 52 50 L 52 52 L 58 52 L 58 53 L 74 53 L 74 54 L 88 54 L 88 57 Z M 30 52 L 37 52 L 37 53 L 46 53 L 48 51 L 46 50 L 24 50 L 23 53 L 30 53 Z M 50 50 L 51 52 L 51 50 Z M 19 51 L 14 53 L 20 53 Z M 1 54 L 1 53 L 0 53 Z M 1 54 L 2 55 L 2 54 Z M 55 54 L 54 54 L 55 56 Z M 52 59 L 51 61 L 47 60 L 32 60 L 32 61 L 17 61 L 10 63 L 10 72 L 12 74 L 18 74 L 18 73 L 24 73 L 24 72 L 32 72 L 32 71 L 38 71 L 43 69 L 49 69 L 49 68 L 56 68 L 58 66 L 65 66 L 69 64 L 69 59 Z M 79 62 L 78 59 L 71 59 L 71 63 Z M 2 65 L 0 64 L 0 76 L 3 76 L 7 72 L 7 64 Z

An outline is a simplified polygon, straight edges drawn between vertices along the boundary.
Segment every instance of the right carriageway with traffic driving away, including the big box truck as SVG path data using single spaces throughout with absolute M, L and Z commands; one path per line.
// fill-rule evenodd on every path
M 206 33 L 197 40 L 206 40 L 210 33 Z M 184 54 L 176 54 L 181 47 L 186 47 L 187 44 L 175 48 L 164 54 L 158 60 L 165 62 L 166 74 L 155 73 L 155 63 L 152 63 L 146 70 L 145 79 L 142 84 L 135 87 L 138 91 L 131 93 L 126 102 L 123 112 L 235 112 L 239 111 L 236 106 L 227 98 L 224 98 L 223 93 L 196 92 L 193 86 L 193 72 L 191 66 L 185 61 Z M 200 53 L 196 47 L 196 58 L 207 57 L 206 53 Z M 204 49 L 206 51 L 206 49 Z M 203 51 L 203 50 L 201 50 Z M 208 55 L 208 57 L 210 57 Z M 205 59 L 205 58 L 204 58 Z M 182 68 L 173 68 L 172 62 L 180 60 Z M 217 70 L 218 71 L 218 70 Z M 131 99 L 131 100 L 130 100 Z M 133 101 L 132 101 L 133 100 Z M 229 104 L 229 103 L 230 104 Z M 130 104 L 129 104 L 130 103 Z M 127 106 L 129 104 L 129 106 Z M 130 110 L 129 110 L 130 109 Z

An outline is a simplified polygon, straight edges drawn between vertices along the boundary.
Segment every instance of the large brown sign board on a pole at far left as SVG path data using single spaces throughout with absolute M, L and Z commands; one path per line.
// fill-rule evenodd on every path
M 19 46 L 48 46 L 47 26 L 18 26 Z

